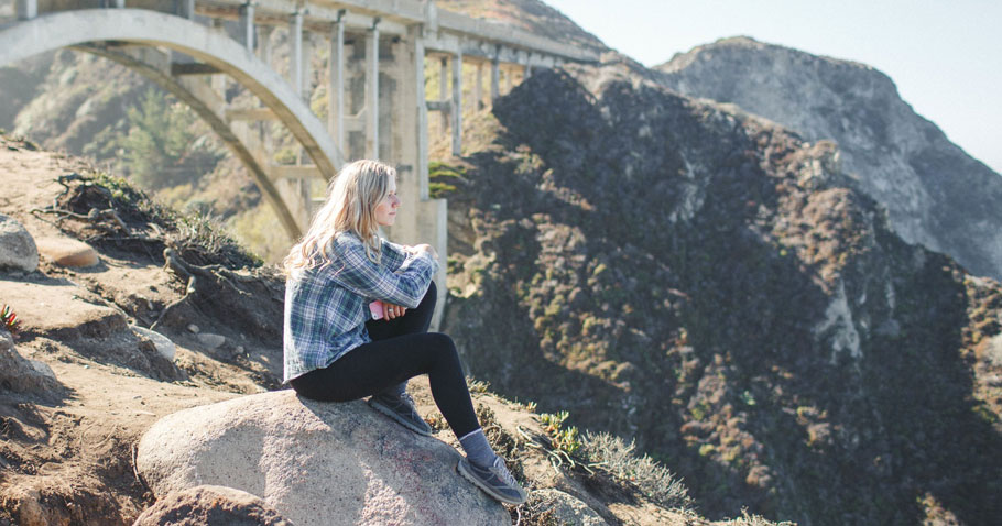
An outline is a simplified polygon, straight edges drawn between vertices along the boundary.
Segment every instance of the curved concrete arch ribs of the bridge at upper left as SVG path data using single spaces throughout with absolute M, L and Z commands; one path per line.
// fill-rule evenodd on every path
M 291 213 L 266 167 L 232 132 L 222 108 L 213 108 L 194 83 L 184 83 L 151 61 L 120 53 L 101 44 L 129 43 L 178 51 L 228 74 L 257 96 L 290 130 L 313 158 L 320 174 L 330 179 L 342 164 L 334 141 L 320 121 L 293 88 L 252 52 L 225 34 L 190 20 L 144 9 L 85 9 L 46 13 L 0 29 L 0 66 L 47 51 L 72 47 L 96 53 L 135 69 L 190 106 L 220 135 L 247 166 L 265 200 L 272 206 L 292 239 L 302 226 Z M 155 61 L 153 61 L 155 62 Z M 207 86 L 205 89 L 209 89 Z

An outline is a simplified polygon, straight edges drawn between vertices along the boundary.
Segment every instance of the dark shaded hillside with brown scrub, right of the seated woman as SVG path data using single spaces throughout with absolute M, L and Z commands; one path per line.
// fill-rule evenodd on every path
M 446 330 L 475 375 L 636 437 L 711 516 L 996 520 L 1002 287 L 903 241 L 834 143 L 621 65 L 470 127 Z

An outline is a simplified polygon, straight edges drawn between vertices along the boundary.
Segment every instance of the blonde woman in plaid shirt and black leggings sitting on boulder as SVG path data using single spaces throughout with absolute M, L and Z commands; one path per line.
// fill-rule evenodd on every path
M 431 435 L 406 393 L 409 379 L 427 374 L 467 453 L 459 473 L 494 498 L 521 504 L 525 492 L 480 429 L 456 346 L 427 331 L 438 255 L 427 244 L 380 237 L 399 207 L 396 171 L 378 161 L 356 161 L 331 180 L 309 231 L 284 261 L 285 381 L 322 402 L 370 396 L 377 410 Z

